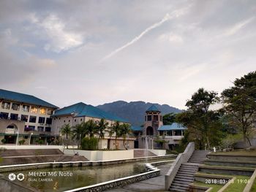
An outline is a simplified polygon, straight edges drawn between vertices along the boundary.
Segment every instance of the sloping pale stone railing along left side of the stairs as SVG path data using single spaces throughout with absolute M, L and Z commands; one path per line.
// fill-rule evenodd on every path
M 189 145 L 187 145 L 184 153 L 178 154 L 176 161 L 172 164 L 167 174 L 165 174 L 165 190 L 169 190 L 170 185 L 173 183 L 174 177 L 176 176 L 181 164 L 187 163 L 187 161 L 189 161 L 189 158 L 191 157 L 194 150 L 195 143 L 189 142 Z

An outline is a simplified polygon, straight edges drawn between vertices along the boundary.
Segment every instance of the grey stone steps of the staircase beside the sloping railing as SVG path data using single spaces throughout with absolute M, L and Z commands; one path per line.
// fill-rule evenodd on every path
M 194 174 L 198 171 L 198 166 L 206 160 L 206 150 L 195 150 L 189 161 L 181 164 L 178 172 L 170 185 L 170 191 L 189 191 L 189 184 L 194 181 Z

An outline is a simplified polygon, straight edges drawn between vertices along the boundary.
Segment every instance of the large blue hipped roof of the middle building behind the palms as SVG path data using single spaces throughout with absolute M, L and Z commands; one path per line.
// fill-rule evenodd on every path
M 109 112 L 105 112 L 103 110 L 99 110 L 99 108 L 94 107 L 90 104 L 84 104 L 83 102 L 72 104 L 68 107 L 61 108 L 56 110 L 53 116 L 60 115 L 74 115 L 74 117 L 91 117 L 91 118 L 103 118 L 108 120 L 116 120 L 125 123 L 129 123 L 127 120 L 123 118 L 119 118 L 116 115 L 110 114 Z

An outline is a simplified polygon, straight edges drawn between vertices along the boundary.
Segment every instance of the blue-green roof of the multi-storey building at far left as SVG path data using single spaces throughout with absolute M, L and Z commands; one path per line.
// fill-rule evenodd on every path
M 25 104 L 34 104 L 34 105 L 38 105 L 42 107 L 50 107 L 54 109 L 59 108 L 35 96 L 31 96 L 23 93 L 17 93 L 13 91 L 7 91 L 4 89 L 0 89 L 0 99 L 4 99 L 7 101 L 16 101 L 16 102 L 21 102 Z

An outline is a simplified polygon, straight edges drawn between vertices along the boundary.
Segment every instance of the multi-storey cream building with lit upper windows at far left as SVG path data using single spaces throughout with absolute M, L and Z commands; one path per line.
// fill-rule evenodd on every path
M 53 104 L 35 96 L 0 89 L 0 142 L 25 144 L 52 141 L 59 134 L 53 134 Z

